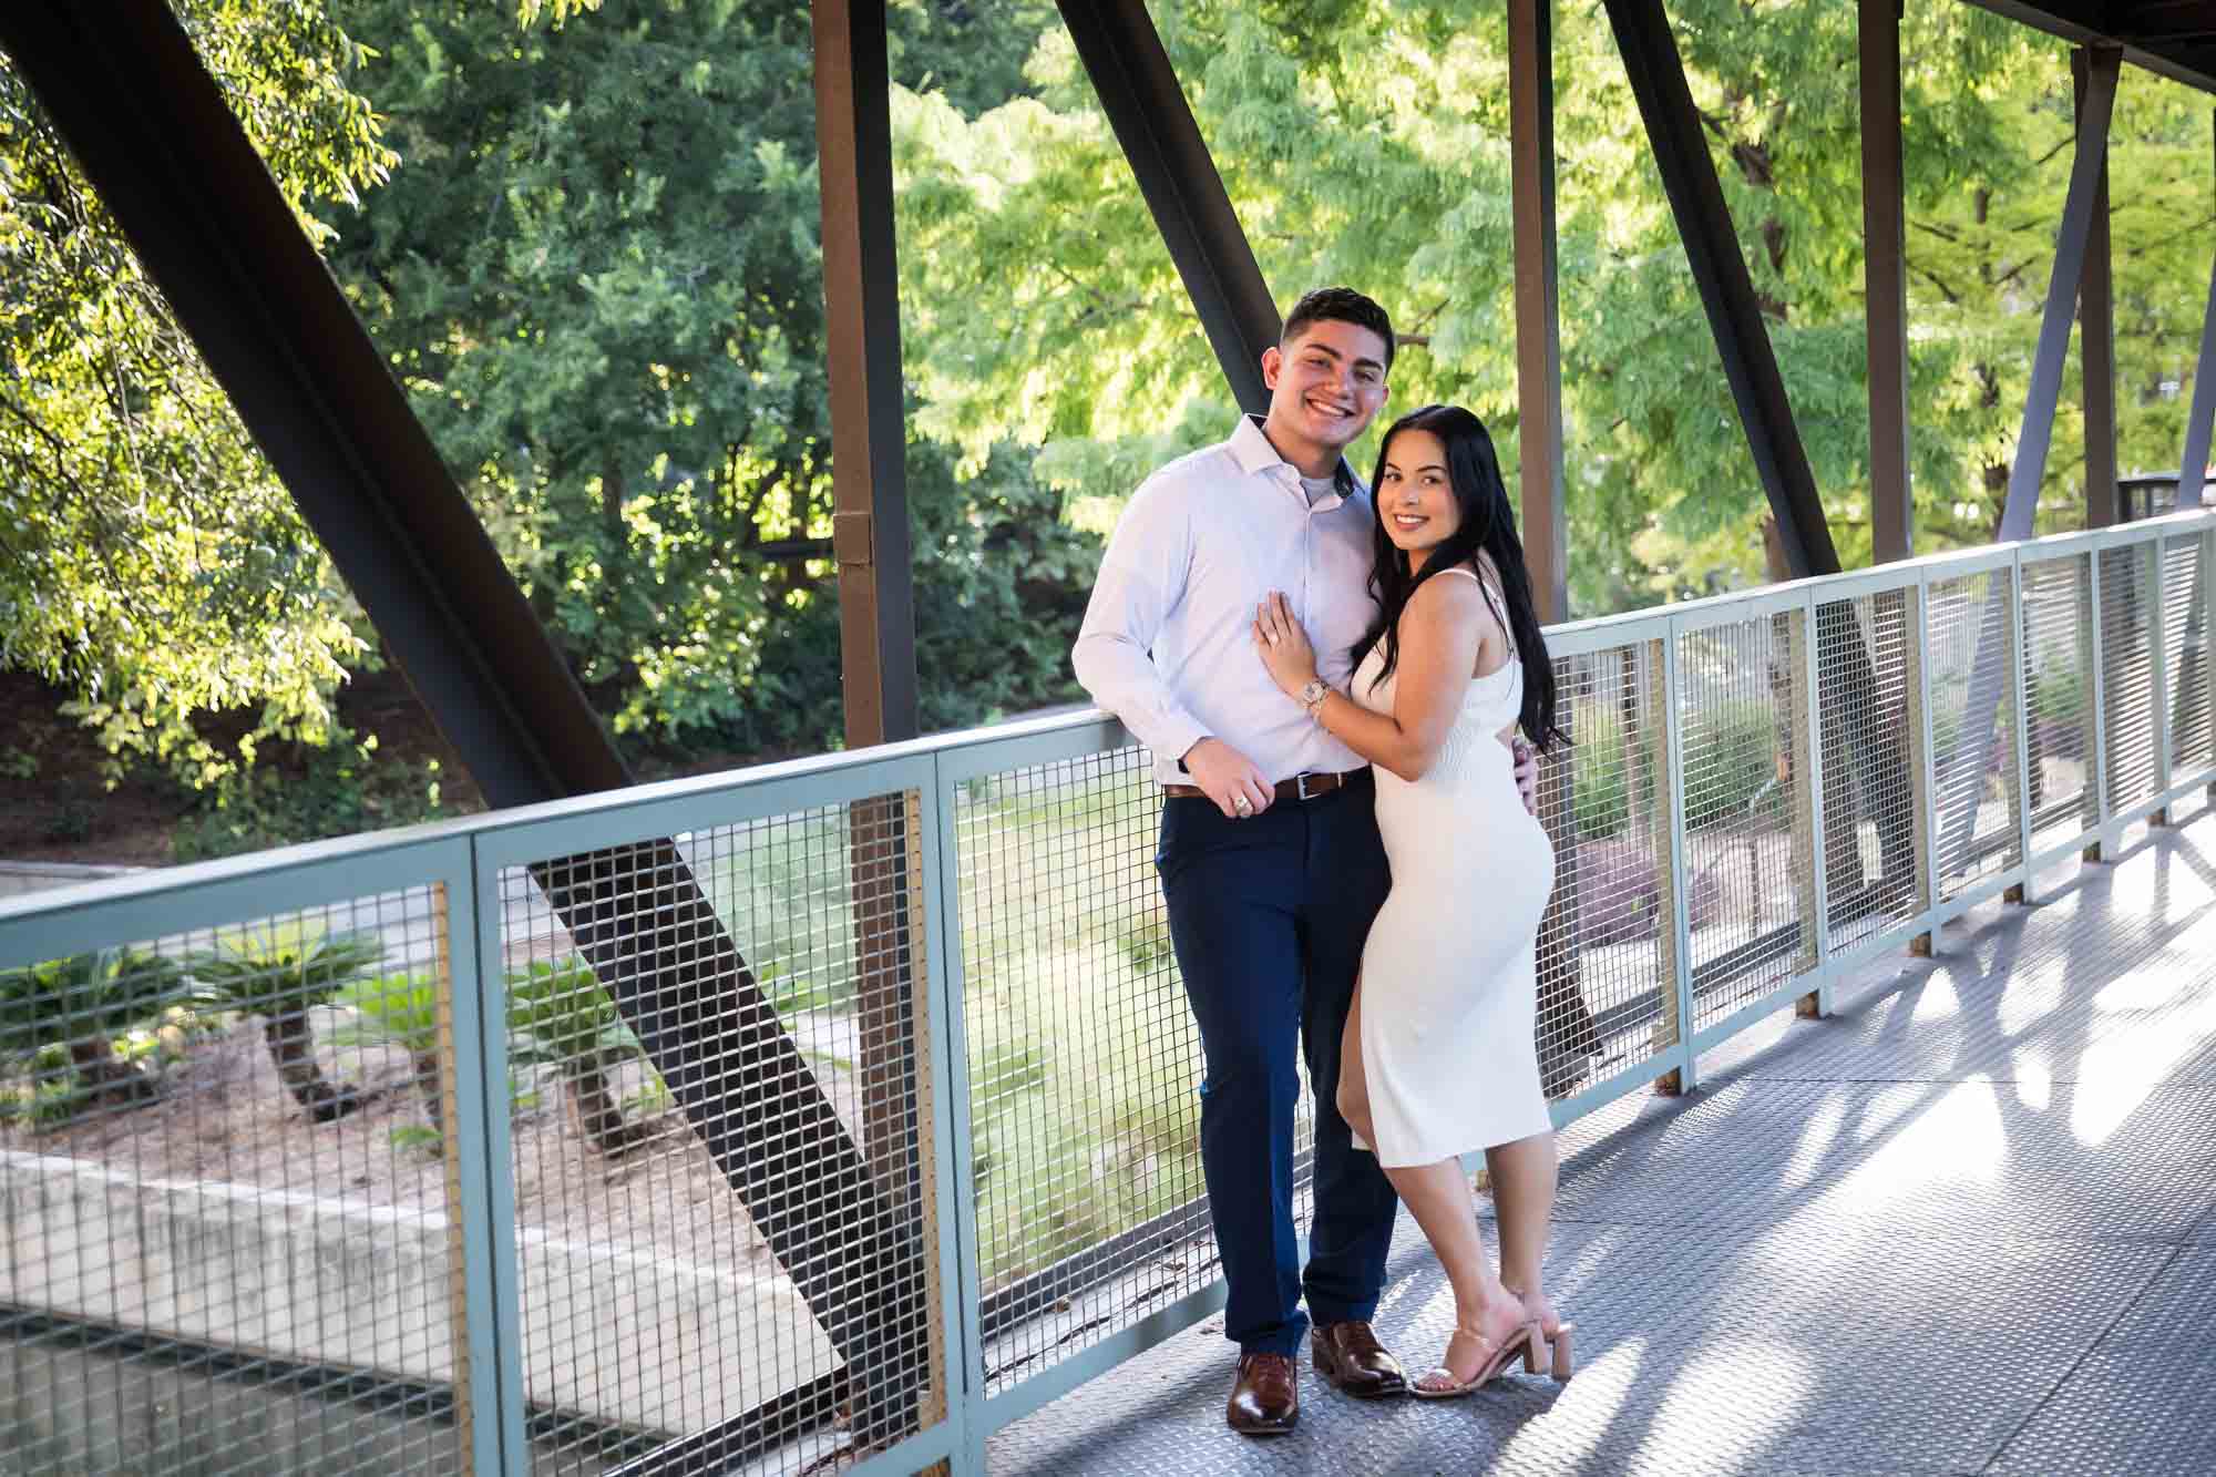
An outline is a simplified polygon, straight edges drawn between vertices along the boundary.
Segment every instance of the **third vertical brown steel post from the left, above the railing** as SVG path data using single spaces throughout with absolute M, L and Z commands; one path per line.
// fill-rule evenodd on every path
M 1908 213 L 1901 182 L 1901 0 L 1861 0 L 1861 282 L 1870 361 L 1870 559 L 1917 552 L 1908 481 Z

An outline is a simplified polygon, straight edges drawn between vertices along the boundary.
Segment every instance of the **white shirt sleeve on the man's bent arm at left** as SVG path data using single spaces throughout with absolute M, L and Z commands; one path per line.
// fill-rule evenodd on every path
M 1092 701 L 1121 719 L 1139 743 L 1170 758 L 1183 758 L 1208 738 L 1208 727 L 1161 681 L 1152 656 L 1155 636 L 1183 599 L 1192 568 L 1192 528 L 1181 503 L 1174 488 L 1159 481 L 1132 495 L 1108 537 L 1070 650 L 1077 681 Z

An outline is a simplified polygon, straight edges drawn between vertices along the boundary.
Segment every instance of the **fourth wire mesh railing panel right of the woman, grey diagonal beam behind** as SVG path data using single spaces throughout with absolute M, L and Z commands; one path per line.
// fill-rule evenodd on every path
M 2017 829 L 2017 652 L 2010 650 L 2014 570 L 1930 583 L 1926 661 L 1932 692 L 1937 887 L 1952 898 L 1972 878 L 2021 860 Z

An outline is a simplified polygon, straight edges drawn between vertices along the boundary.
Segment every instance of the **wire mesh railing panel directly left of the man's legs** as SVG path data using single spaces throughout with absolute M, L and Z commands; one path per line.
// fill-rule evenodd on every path
M 1141 747 L 979 776 L 955 805 L 988 1393 L 1219 1275 L 1159 823 Z M 1310 1133 L 1303 1091 L 1303 1189 Z

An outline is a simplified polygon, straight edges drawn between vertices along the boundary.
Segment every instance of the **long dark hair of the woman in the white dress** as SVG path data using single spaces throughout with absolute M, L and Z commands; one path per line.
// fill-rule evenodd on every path
M 1432 548 L 1423 568 L 1414 572 L 1407 554 L 1385 532 L 1385 495 L 1378 490 L 1385 479 L 1385 457 L 1392 455 L 1392 441 L 1403 430 L 1429 430 L 1447 448 L 1447 483 L 1454 488 L 1454 506 L 1463 515 L 1447 541 Z M 1538 628 L 1531 574 L 1522 561 L 1522 539 L 1516 537 L 1516 515 L 1509 510 L 1509 490 L 1500 481 L 1500 457 L 1494 455 L 1494 439 L 1485 432 L 1485 421 L 1460 406 L 1409 410 L 1392 424 L 1378 446 L 1369 497 L 1376 503 L 1376 559 L 1369 566 L 1369 594 L 1378 601 L 1378 619 L 1354 643 L 1354 663 L 1361 665 L 1369 648 L 1383 641 L 1385 668 L 1378 672 L 1378 681 L 1385 681 L 1401 661 L 1401 612 L 1407 610 L 1416 585 L 1458 563 L 1476 566 L 1480 552 L 1489 554 L 1494 570 L 1500 572 L 1500 594 L 1507 599 L 1507 612 L 1496 610 L 1496 614 L 1505 614 L 1516 654 L 1525 663 L 1525 705 L 1518 723 L 1540 750 L 1567 743 L 1569 734 L 1556 723 L 1553 661 L 1547 656 L 1547 636 Z M 1485 603 L 1494 603 L 1491 590 L 1485 590 Z

